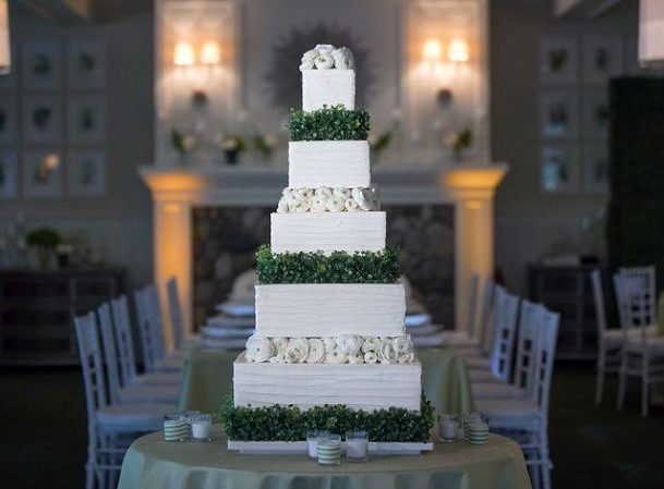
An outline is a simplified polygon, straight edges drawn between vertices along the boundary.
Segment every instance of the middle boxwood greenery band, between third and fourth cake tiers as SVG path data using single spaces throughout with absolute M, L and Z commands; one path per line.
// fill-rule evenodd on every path
M 381 252 L 256 252 L 258 281 L 268 283 L 395 283 L 401 277 L 399 248 Z

